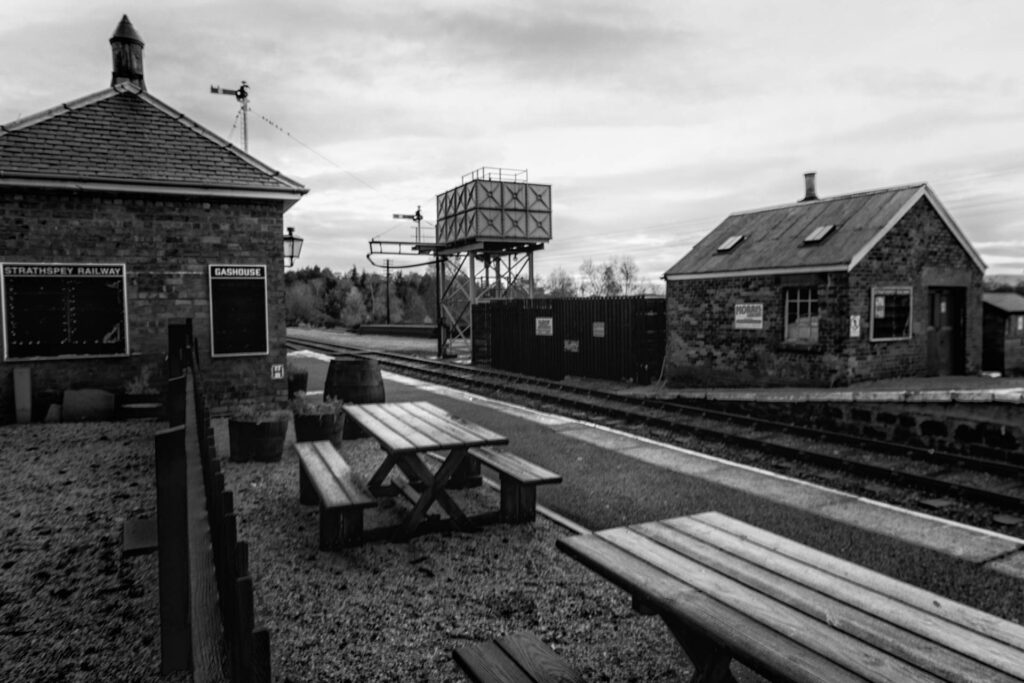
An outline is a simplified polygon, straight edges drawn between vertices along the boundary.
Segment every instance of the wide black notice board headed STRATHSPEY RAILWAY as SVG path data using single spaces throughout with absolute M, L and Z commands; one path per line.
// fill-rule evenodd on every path
M 103 305 L 114 299 L 119 305 Z M 5 362 L 131 354 L 125 263 L 0 263 L 0 306 Z M 17 339 L 26 334 L 37 338 Z

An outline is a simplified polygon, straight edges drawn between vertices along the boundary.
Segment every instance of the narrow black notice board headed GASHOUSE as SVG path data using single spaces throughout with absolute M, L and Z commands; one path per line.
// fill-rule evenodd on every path
M 208 273 L 210 356 L 269 355 L 266 264 L 211 263 Z

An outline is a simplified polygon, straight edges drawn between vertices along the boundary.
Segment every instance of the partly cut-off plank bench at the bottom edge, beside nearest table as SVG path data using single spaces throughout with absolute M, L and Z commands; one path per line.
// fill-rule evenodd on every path
M 516 633 L 453 652 L 474 683 L 583 683 L 583 677 L 536 634 Z

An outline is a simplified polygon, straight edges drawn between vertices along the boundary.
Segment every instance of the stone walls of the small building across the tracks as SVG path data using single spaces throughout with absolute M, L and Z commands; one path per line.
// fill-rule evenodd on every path
M 845 385 L 924 375 L 928 288 L 966 291 L 966 373 L 981 368 L 982 273 L 927 201 L 919 202 L 850 273 L 670 281 L 667 374 L 681 386 Z M 910 340 L 871 342 L 870 290 L 912 286 Z M 784 342 L 784 290 L 813 287 L 818 342 Z M 763 330 L 734 329 L 735 305 L 760 303 Z M 850 336 L 859 315 L 860 337 Z

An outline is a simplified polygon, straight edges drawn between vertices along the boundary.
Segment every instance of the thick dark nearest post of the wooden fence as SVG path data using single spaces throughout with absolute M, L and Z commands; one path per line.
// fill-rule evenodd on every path
M 183 379 L 183 378 L 182 378 Z M 160 671 L 191 670 L 185 428 L 157 432 Z

